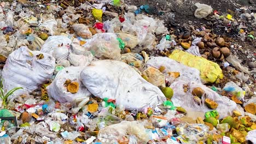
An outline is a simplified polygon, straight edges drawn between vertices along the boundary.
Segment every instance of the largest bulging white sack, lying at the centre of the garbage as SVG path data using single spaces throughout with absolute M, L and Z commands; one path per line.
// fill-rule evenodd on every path
M 92 62 L 81 72 L 83 84 L 98 98 L 115 99 L 126 110 L 143 111 L 165 100 L 161 90 L 144 80 L 126 63 L 103 60 Z M 137 97 L 139 95 L 139 97 Z

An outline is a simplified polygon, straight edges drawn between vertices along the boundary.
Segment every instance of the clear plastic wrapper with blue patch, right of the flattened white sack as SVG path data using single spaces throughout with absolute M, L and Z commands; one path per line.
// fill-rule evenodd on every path
M 237 86 L 233 81 L 226 83 L 223 87 L 223 91 L 230 93 L 231 95 L 235 95 L 238 99 L 243 99 L 243 97 L 245 97 L 245 91 L 243 91 L 243 89 Z

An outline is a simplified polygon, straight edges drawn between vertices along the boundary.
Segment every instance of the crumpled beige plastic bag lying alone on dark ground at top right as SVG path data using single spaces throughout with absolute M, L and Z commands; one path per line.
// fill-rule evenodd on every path
M 202 19 L 212 13 L 212 7 L 207 4 L 195 3 L 197 9 L 195 10 L 195 17 L 198 19 Z

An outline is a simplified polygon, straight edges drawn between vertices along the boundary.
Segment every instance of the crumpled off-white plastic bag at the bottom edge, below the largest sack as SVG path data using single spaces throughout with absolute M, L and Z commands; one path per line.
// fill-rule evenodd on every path
M 103 143 L 114 143 L 127 135 L 136 136 L 138 143 L 147 143 L 150 140 L 150 133 L 136 121 L 123 121 L 100 129 L 97 138 Z

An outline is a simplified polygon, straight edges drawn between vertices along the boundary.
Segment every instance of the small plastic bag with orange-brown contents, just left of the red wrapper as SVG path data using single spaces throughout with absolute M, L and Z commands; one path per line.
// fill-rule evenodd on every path
M 73 27 L 75 33 L 79 37 L 82 37 L 84 39 L 91 39 L 92 34 L 91 34 L 88 26 L 85 26 L 84 24 L 78 23 L 78 24 L 72 25 L 72 27 Z

